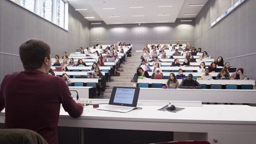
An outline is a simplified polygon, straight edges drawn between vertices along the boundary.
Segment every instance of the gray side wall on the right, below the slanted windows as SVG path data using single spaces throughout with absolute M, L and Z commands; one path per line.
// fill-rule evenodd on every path
M 230 2 L 230 1 L 229 1 Z M 195 46 L 202 47 L 211 56 L 223 56 L 235 68 L 244 68 L 249 78 L 256 79 L 256 1 L 247 0 L 223 20 L 210 28 L 210 22 L 225 11 L 227 1 L 208 1 L 196 18 Z M 234 58 L 233 58 L 234 57 Z

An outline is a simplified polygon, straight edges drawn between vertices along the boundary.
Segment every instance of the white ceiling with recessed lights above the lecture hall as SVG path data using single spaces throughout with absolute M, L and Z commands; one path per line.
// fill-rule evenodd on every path
M 177 18 L 195 18 L 207 0 L 68 0 L 88 21 L 106 24 L 175 23 Z M 159 7 L 172 6 L 172 7 Z M 143 7 L 143 8 L 130 8 Z M 115 8 L 115 9 L 104 9 Z M 195 13 L 194 15 L 184 15 Z

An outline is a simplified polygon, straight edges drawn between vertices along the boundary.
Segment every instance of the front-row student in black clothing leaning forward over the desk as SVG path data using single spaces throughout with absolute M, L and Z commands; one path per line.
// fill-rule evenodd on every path
M 191 73 L 188 74 L 188 77 L 183 79 L 180 84 L 180 88 L 201 88 L 199 82 L 193 79 L 193 75 Z

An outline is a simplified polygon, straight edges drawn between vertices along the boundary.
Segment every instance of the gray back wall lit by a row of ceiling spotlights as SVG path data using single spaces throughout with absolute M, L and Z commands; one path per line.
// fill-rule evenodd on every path
M 194 43 L 194 23 L 90 25 L 89 46 L 126 41 L 133 50 L 141 50 L 145 43 Z M 98 41 L 97 41 L 98 39 Z

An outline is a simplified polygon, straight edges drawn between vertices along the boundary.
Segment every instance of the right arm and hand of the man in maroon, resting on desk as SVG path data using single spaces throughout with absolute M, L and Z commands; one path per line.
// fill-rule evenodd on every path
M 81 116 L 84 110 L 84 106 L 81 102 L 78 101 L 78 103 L 76 103 L 73 100 L 68 86 L 62 79 L 59 79 L 59 94 L 60 103 L 62 103 L 62 107 L 64 108 L 64 110 L 67 111 L 71 117 Z

